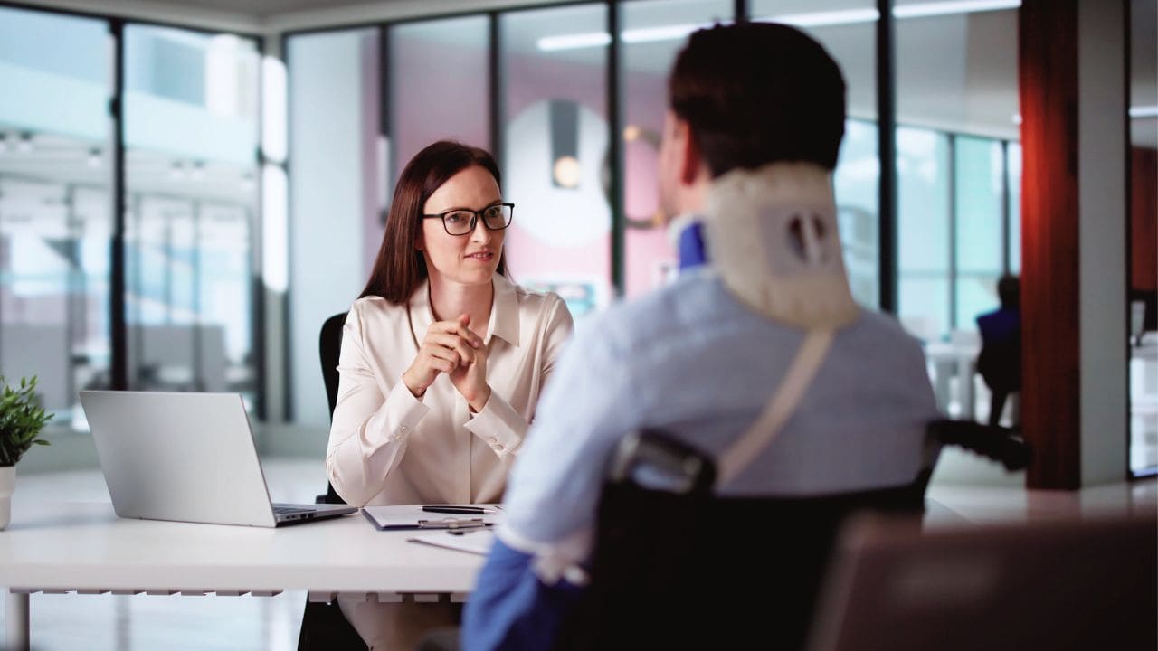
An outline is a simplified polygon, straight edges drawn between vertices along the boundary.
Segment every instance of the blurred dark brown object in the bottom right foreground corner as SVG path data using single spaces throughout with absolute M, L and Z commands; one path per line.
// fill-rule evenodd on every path
M 1158 648 L 1152 512 L 845 534 L 808 651 Z

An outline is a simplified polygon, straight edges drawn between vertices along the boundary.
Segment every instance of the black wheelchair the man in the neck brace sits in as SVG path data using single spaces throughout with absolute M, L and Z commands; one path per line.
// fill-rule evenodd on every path
M 1004 427 L 938 420 L 926 436 L 1011 470 L 1029 460 Z M 591 584 L 557 648 L 799 650 L 841 525 L 874 511 L 919 528 L 932 470 L 863 492 L 716 497 L 710 455 L 662 432 L 632 434 L 603 487 Z

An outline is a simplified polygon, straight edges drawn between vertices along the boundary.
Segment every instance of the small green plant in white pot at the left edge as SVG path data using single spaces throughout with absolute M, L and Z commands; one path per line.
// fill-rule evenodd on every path
M 34 445 L 49 445 L 39 438 L 52 418 L 36 396 L 36 375 L 20 379 L 20 388 L 8 386 L 0 375 L 0 529 L 12 518 L 12 492 L 16 488 L 16 462 Z

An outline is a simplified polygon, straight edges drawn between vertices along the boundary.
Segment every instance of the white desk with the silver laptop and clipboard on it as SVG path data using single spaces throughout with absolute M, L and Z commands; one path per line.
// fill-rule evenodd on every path
M 406 542 L 411 534 L 375 531 L 360 513 L 266 529 L 120 520 L 107 502 L 24 499 L 0 532 L 8 649 L 29 648 L 29 594 L 35 592 L 273 595 L 307 590 L 320 601 L 336 593 L 379 601 L 402 594 L 418 601 L 441 594 L 463 600 L 483 557 Z

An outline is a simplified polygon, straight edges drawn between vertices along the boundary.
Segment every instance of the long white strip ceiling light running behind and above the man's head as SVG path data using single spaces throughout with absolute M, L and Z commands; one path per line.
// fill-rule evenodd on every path
M 998 12 L 1017 9 L 1021 0 L 960 0 L 953 2 L 922 2 L 893 7 L 893 16 L 897 20 L 923 19 L 928 16 L 946 16 L 954 14 L 974 14 L 979 12 Z M 778 22 L 794 27 L 826 27 L 838 24 L 858 24 L 873 22 L 880 17 L 877 9 L 840 9 L 835 12 L 809 12 L 805 14 L 783 14 L 754 19 L 760 22 Z M 620 34 L 624 43 L 654 43 L 658 41 L 676 41 L 687 37 L 692 31 L 711 27 L 705 24 L 675 24 L 626 29 Z M 582 47 L 602 47 L 611 42 L 611 35 L 606 31 L 566 34 L 562 36 L 544 36 L 537 42 L 542 52 L 559 50 L 579 50 Z

